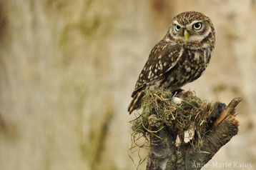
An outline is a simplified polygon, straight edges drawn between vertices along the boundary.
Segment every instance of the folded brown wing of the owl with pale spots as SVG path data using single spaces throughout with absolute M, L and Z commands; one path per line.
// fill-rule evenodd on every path
M 149 84 L 150 81 L 154 81 L 154 79 L 159 78 L 159 76 L 166 74 L 172 69 L 177 64 L 177 61 L 179 61 L 183 51 L 182 46 L 171 45 L 164 40 L 159 41 L 150 52 L 149 59 L 144 65 L 141 74 L 139 74 L 132 97 L 143 89 L 145 85 Z

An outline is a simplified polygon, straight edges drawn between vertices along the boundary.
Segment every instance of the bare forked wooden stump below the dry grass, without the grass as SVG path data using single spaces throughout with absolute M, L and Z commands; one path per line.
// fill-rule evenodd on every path
M 195 134 L 194 138 L 200 138 L 201 144 L 197 147 L 190 143 L 182 143 L 177 146 L 177 131 L 170 131 L 164 127 L 156 134 L 150 134 L 150 152 L 147 161 L 147 170 L 174 170 L 174 169 L 201 169 L 207 164 L 219 149 L 227 144 L 232 136 L 238 132 L 238 121 L 235 120 L 235 107 L 242 99 L 233 99 L 225 108 L 223 104 L 216 103 L 215 110 L 209 120 L 209 129 L 203 134 Z M 216 114 L 216 112 L 221 114 Z M 217 116 L 217 117 L 216 117 Z M 214 120 L 214 122 L 210 122 Z M 164 126 L 164 121 L 152 113 L 148 117 L 147 128 L 157 131 Z

